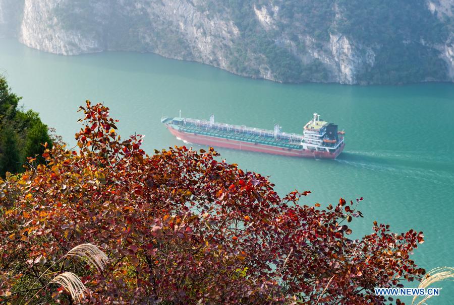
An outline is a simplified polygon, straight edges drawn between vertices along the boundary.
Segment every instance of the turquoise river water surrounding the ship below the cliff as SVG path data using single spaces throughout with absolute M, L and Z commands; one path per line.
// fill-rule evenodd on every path
M 365 218 L 395 232 L 423 231 L 414 255 L 427 270 L 454 266 L 454 85 L 287 85 L 250 80 L 210 66 L 153 54 L 106 52 L 64 57 L 0 39 L 0 69 L 25 109 L 74 144 L 77 109 L 86 99 L 105 102 L 120 119 L 120 133 L 145 134 L 144 149 L 182 144 L 160 123 L 162 115 L 208 119 L 302 132 L 313 112 L 346 130 L 337 160 L 311 160 L 219 148 L 228 162 L 269 175 L 280 194 L 310 190 L 306 203 L 364 197 Z M 199 148 L 197 146 L 197 148 Z M 412 286 L 412 285 L 406 285 Z M 431 304 L 450 304 L 454 283 L 444 283 Z M 408 302 L 407 302 L 408 303 Z

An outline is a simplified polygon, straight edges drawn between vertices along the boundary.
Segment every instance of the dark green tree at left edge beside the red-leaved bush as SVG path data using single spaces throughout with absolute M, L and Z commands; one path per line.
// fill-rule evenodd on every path
M 38 113 L 18 109 L 21 97 L 11 93 L 5 78 L 0 77 L 0 176 L 6 172 L 22 171 L 27 157 L 37 157 L 44 152 L 43 143 L 52 144 L 47 126 Z

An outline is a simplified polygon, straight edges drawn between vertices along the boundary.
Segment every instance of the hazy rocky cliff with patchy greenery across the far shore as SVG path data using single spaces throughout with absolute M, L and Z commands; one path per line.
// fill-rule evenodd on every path
M 0 35 L 154 52 L 279 82 L 454 81 L 453 0 L 0 0 Z

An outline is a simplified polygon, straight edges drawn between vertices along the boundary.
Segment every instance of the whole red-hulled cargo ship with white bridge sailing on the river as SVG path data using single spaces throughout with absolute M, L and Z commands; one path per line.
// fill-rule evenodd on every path
M 161 122 L 178 139 L 189 143 L 265 152 L 267 154 L 335 159 L 344 149 L 345 131 L 337 125 L 320 119 L 314 113 L 303 128 L 303 134 L 282 132 L 276 124 L 274 130 L 218 123 L 214 115 L 209 120 L 179 117 L 162 117 Z

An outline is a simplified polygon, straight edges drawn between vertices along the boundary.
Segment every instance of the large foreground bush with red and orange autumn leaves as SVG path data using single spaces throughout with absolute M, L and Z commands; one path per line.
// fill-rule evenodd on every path
M 321 209 L 307 191 L 280 197 L 213 148 L 146 155 L 107 107 L 81 111 L 77 151 L 55 145 L 45 164 L 0 179 L 0 302 L 71 303 L 49 282 L 74 271 L 91 304 L 387 304 L 374 287 L 425 273 L 409 257 L 421 232 L 374 222 L 349 238 L 362 198 Z M 86 243 L 108 255 L 102 272 L 64 258 Z

